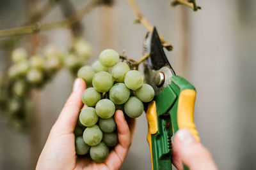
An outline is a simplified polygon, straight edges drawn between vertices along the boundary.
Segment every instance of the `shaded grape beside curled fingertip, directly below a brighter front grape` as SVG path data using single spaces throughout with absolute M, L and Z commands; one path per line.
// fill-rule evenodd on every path
M 99 127 L 102 132 L 110 133 L 115 131 L 116 129 L 116 122 L 113 117 L 111 118 L 99 118 Z

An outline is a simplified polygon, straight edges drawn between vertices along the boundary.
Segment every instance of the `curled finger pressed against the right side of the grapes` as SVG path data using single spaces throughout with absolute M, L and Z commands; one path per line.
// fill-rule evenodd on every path
M 131 132 L 122 111 L 116 111 L 115 121 L 118 133 L 118 145 L 109 153 L 108 159 L 106 160 L 106 165 L 109 169 L 120 168 L 131 146 Z

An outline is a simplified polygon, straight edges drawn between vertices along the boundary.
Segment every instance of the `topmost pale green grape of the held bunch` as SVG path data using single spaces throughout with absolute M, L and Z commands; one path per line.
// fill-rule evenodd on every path
M 113 67 L 118 63 L 119 55 L 115 50 L 106 49 L 100 53 L 100 63 L 105 67 Z

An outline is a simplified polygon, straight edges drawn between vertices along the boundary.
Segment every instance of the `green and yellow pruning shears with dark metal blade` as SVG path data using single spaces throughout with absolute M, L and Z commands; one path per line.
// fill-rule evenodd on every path
M 144 41 L 146 82 L 155 91 L 154 100 L 148 104 L 147 141 L 150 148 L 151 164 L 154 170 L 172 169 L 172 136 L 181 128 L 188 129 L 199 141 L 193 112 L 196 90 L 191 83 L 177 76 L 168 62 L 156 28 Z M 184 165 L 184 169 L 188 169 Z

